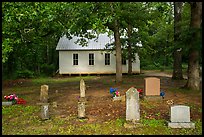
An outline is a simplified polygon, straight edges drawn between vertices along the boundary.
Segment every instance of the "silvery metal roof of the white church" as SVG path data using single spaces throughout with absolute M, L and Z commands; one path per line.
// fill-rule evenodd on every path
M 81 37 L 74 36 L 72 39 L 68 39 L 65 35 L 59 39 L 56 50 L 102 50 L 105 49 L 106 44 L 114 42 L 113 36 L 108 36 L 107 33 L 99 34 L 98 39 L 86 39 L 88 41 L 87 46 L 81 46 L 76 44 L 77 39 Z

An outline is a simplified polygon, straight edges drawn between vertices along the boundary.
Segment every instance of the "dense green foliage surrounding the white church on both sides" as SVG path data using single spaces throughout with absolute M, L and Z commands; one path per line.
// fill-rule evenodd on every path
M 128 56 L 125 43 L 140 56 L 141 69 L 172 67 L 173 6 L 172 2 L 3 2 L 2 3 L 2 63 L 4 78 L 52 76 L 58 70 L 59 38 L 66 34 L 93 38 L 87 30 L 97 33 L 111 30 L 117 20 L 123 56 Z M 187 63 L 186 44 L 189 32 L 190 7 L 182 12 L 183 62 Z M 133 29 L 127 38 L 127 26 Z M 109 29 L 109 30 L 108 30 Z M 198 30 L 200 31 L 200 30 Z M 141 42 L 142 47 L 135 46 Z M 201 43 L 201 41 L 198 41 Z M 81 39 L 81 44 L 86 42 Z M 200 58 L 200 61 L 201 58 Z

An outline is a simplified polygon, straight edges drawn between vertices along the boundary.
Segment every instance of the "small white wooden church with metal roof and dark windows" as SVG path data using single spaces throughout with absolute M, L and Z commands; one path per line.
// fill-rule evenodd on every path
M 79 37 L 59 39 L 56 50 L 59 51 L 59 74 L 115 74 L 115 51 L 108 50 L 105 45 L 114 42 L 114 38 L 100 34 L 98 39 L 88 40 L 88 46 L 76 44 Z M 132 72 L 140 73 L 139 56 L 135 54 Z M 128 72 L 128 61 L 122 59 L 122 73 Z

